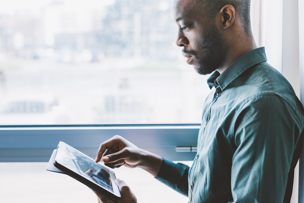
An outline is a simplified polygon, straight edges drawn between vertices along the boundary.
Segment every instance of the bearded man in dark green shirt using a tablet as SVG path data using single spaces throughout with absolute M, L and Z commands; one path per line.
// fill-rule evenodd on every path
M 140 167 L 191 203 L 290 202 L 302 148 L 304 110 L 288 81 L 266 62 L 250 26 L 250 0 L 174 0 L 176 44 L 215 90 L 206 99 L 192 166 L 174 164 L 120 136 L 96 162 Z M 122 202 L 137 202 L 117 180 Z M 99 202 L 110 202 L 97 194 Z

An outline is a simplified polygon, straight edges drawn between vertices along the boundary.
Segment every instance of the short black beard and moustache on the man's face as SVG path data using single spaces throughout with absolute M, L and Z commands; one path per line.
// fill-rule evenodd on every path
M 196 51 L 187 50 L 185 47 L 182 52 L 191 54 L 198 60 L 195 68 L 201 75 L 207 75 L 219 68 L 224 60 L 223 38 L 216 27 L 213 25 L 209 30 L 205 40 L 200 44 L 200 51 L 204 54 L 203 58 L 198 58 Z

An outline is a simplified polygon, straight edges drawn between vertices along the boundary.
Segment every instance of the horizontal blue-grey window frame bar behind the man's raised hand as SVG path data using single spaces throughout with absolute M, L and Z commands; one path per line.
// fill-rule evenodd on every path
M 59 141 L 95 158 L 100 143 L 121 135 L 169 160 L 192 161 L 200 124 L 0 126 L 0 162 L 47 162 Z

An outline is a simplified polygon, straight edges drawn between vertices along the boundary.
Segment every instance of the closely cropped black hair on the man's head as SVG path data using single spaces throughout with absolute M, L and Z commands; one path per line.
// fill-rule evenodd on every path
M 250 23 L 250 0 L 196 0 L 209 14 L 214 17 L 224 5 L 232 5 L 240 16 L 244 32 L 252 35 Z

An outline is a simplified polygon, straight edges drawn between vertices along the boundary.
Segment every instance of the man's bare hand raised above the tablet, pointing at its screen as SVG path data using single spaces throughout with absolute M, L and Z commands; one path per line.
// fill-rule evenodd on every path
M 162 164 L 161 156 L 140 149 L 119 135 L 100 144 L 95 161 L 99 162 L 101 159 L 111 168 L 140 167 L 154 177 L 157 176 Z

